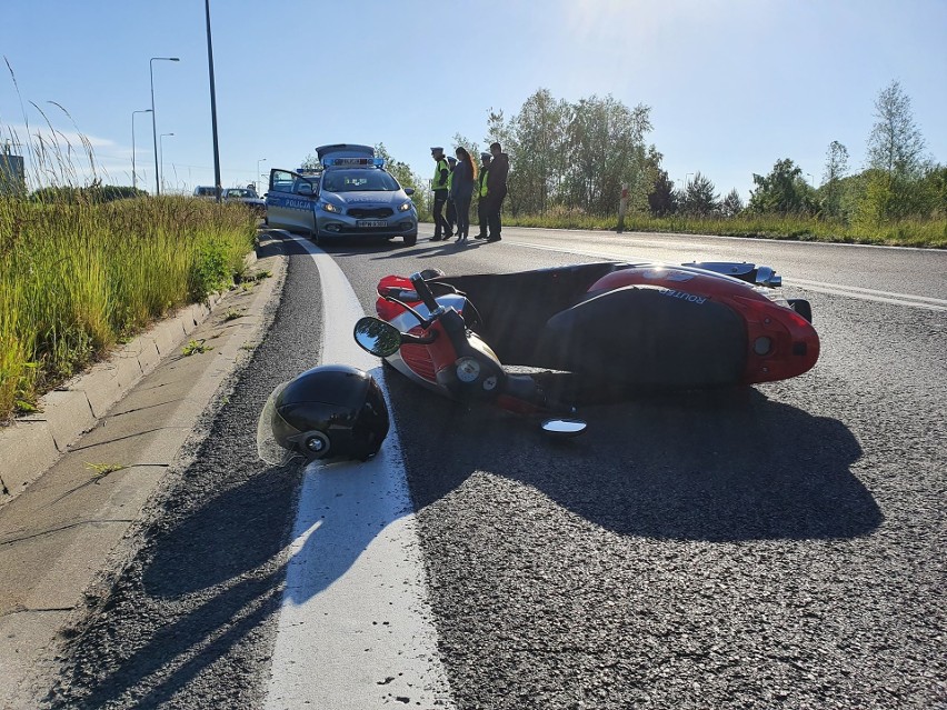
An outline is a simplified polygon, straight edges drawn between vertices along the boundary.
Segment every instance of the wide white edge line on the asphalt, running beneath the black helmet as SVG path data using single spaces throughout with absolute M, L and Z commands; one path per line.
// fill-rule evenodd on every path
M 385 389 L 379 361 L 351 338 L 365 313 L 341 269 L 309 241 L 296 241 L 322 283 L 321 362 L 368 370 Z M 416 524 L 393 420 L 371 461 L 306 470 L 268 710 L 453 707 Z

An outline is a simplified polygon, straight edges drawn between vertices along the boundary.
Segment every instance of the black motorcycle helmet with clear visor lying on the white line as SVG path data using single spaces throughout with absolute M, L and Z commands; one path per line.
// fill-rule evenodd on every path
M 378 453 L 388 434 L 388 406 L 367 372 L 323 364 L 297 376 L 270 396 L 260 417 L 258 446 L 272 441 L 308 461 L 358 459 Z M 285 458 L 285 457 L 283 457 Z

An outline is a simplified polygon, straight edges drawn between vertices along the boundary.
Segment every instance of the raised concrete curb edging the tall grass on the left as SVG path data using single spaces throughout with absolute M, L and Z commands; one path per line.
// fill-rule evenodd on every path
M 245 257 L 245 267 L 257 252 Z M 0 508 L 40 478 L 73 441 L 104 417 L 163 358 L 176 351 L 221 301 L 211 293 L 156 323 L 103 362 L 92 366 L 40 398 L 39 412 L 0 429 Z

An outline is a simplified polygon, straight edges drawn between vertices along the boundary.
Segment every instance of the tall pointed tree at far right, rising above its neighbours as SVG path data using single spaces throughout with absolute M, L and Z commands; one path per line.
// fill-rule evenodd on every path
M 868 167 L 888 174 L 916 177 L 925 143 L 914 122 L 910 98 L 891 81 L 875 99 L 875 122 L 868 137 Z

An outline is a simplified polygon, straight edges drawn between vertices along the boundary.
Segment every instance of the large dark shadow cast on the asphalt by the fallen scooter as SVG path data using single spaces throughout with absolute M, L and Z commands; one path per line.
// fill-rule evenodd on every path
M 883 520 L 850 471 L 861 449 L 845 424 L 755 389 L 586 408 L 586 433 L 550 440 L 536 421 L 409 397 L 402 389 L 413 386 L 388 382 L 392 399 L 405 402 L 396 411 L 410 439 L 418 510 L 482 471 L 627 536 L 835 539 L 867 534 Z

